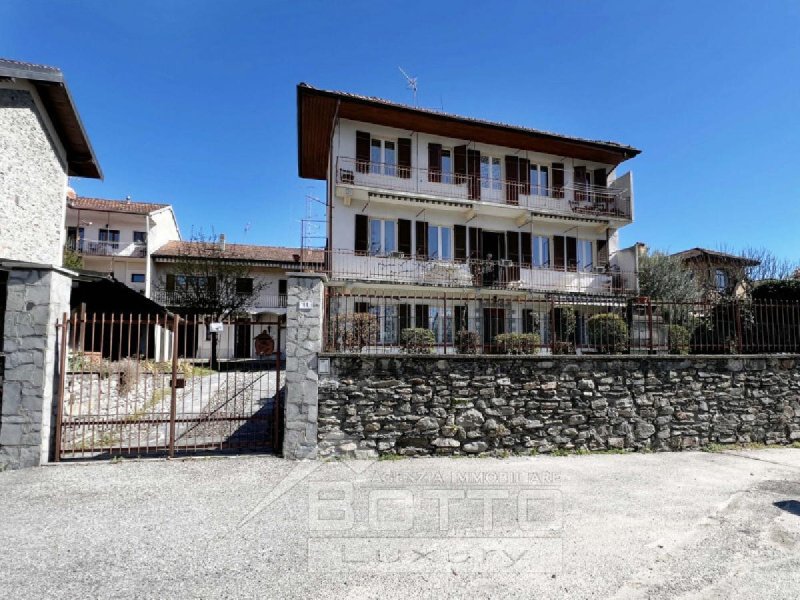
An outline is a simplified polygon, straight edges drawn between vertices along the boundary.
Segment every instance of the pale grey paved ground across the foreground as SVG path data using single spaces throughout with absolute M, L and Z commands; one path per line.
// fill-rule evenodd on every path
M 55 465 L 0 519 L 6 598 L 800 597 L 798 449 Z

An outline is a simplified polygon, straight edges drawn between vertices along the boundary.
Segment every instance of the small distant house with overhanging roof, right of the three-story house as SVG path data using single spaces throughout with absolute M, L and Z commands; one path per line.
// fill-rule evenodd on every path
M 747 268 L 759 265 L 757 260 L 707 248 L 692 248 L 676 252 L 694 273 L 694 278 L 706 296 L 742 296 L 747 292 Z

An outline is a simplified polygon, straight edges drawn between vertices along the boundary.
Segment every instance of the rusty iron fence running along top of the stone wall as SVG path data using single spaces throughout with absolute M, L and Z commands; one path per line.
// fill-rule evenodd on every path
M 329 288 L 325 349 L 396 354 L 800 352 L 800 303 Z

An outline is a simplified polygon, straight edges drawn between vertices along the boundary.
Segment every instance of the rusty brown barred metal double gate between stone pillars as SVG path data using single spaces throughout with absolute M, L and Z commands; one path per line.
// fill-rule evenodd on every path
M 284 326 L 65 313 L 55 460 L 278 451 Z

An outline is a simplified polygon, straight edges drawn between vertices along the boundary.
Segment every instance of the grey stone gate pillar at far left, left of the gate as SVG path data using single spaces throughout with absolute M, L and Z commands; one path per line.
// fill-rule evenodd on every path
M 0 470 L 47 462 L 56 403 L 56 320 L 69 311 L 72 280 L 60 272 L 14 270 L 8 276 Z

